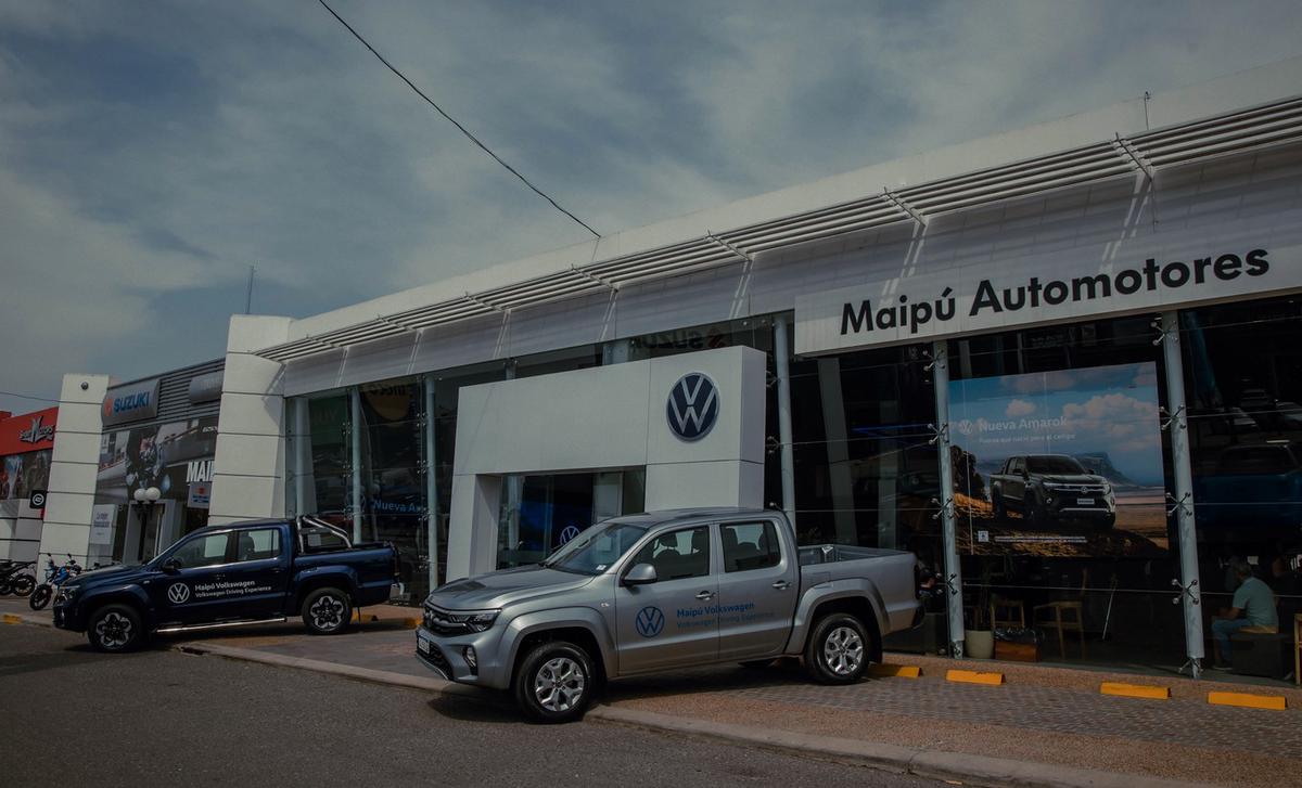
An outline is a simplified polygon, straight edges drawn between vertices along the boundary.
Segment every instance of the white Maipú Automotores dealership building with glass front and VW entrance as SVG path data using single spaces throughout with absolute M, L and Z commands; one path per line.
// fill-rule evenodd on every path
M 1038 629 L 1043 659 L 1178 667 L 1236 555 L 1290 631 L 1299 85 L 1285 61 L 236 316 L 210 521 L 333 518 L 400 547 L 415 601 L 621 512 L 773 507 L 940 573 L 918 648 Z

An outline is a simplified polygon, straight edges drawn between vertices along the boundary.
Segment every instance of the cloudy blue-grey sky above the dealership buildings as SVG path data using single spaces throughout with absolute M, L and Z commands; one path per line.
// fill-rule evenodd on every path
M 1295 0 L 332 5 L 602 233 L 1302 53 Z M 0 0 L 0 390 L 220 355 L 249 265 L 305 316 L 586 237 L 315 0 Z

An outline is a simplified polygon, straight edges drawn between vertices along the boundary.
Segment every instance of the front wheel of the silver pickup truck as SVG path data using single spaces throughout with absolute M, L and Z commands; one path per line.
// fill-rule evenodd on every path
M 592 698 L 592 659 L 572 642 L 535 646 L 516 671 L 516 702 L 534 720 L 566 723 L 583 716 Z

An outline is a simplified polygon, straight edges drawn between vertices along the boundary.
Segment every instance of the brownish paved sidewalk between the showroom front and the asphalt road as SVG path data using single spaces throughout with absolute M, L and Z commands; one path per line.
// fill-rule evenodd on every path
M 9 609 L 0 603 L 0 612 Z M 504 701 L 432 676 L 413 657 L 414 638 L 400 618 L 385 614 L 339 637 L 311 637 L 296 623 L 168 642 L 194 653 Z M 1216 681 L 1165 679 L 1170 700 L 1152 701 L 1099 693 L 1100 681 L 1135 683 L 1133 675 L 889 659 L 919 666 L 921 676 L 820 687 L 807 683 L 796 664 L 699 668 L 613 683 L 589 719 L 967 784 L 1302 785 L 1297 690 L 1282 690 L 1289 709 L 1272 711 L 1208 705 L 1208 692 L 1251 689 Z M 945 670 L 952 667 L 1009 670 L 1001 685 L 974 685 L 948 681 Z

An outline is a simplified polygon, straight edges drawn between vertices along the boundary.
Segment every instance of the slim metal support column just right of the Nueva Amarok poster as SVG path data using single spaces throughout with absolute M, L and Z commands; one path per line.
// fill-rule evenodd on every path
M 1198 537 L 1194 533 L 1194 473 L 1189 458 L 1189 415 L 1185 410 L 1185 360 L 1180 352 L 1180 312 L 1161 313 L 1161 354 L 1167 367 L 1167 408 L 1170 414 L 1163 425 L 1170 432 L 1170 462 L 1174 466 L 1174 514 L 1180 533 L 1180 590 L 1185 609 L 1186 663 L 1197 679 L 1203 670 L 1203 610 L 1198 588 Z

